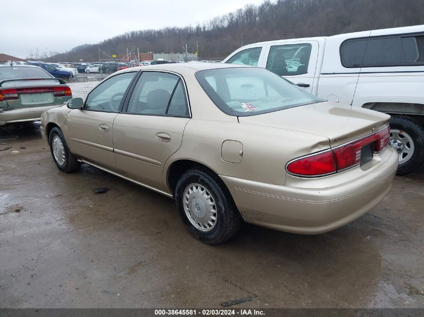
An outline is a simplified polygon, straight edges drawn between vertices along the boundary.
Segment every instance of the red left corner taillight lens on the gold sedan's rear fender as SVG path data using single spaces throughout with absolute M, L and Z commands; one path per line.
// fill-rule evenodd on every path
M 336 159 L 331 150 L 297 159 L 287 165 L 287 170 L 301 176 L 318 176 L 335 173 Z

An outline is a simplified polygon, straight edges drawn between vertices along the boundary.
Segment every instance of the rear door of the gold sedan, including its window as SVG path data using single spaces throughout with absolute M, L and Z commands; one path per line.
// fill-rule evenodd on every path
M 119 173 L 165 191 L 164 164 L 180 148 L 190 120 L 183 78 L 167 72 L 143 72 L 126 108 L 113 123 Z

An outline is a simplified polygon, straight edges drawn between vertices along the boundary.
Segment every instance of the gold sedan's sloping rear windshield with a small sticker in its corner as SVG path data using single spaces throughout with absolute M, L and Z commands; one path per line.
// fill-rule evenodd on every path
M 252 116 L 324 100 L 262 68 L 221 68 L 196 73 L 214 104 L 228 115 Z

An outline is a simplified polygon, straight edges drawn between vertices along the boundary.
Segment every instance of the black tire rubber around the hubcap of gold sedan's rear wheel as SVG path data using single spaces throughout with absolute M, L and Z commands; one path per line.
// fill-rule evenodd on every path
M 215 201 L 217 217 L 212 230 L 201 231 L 189 220 L 184 210 L 184 191 L 191 184 L 200 184 Z M 218 244 L 233 237 L 241 224 L 241 216 L 231 194 L 222 180 L 213 173 L 202 168 L 187 170 L 178 180 L 175 189 L 175 201 L 181 219 L 187 229 L 200 241 L 208 244 Z

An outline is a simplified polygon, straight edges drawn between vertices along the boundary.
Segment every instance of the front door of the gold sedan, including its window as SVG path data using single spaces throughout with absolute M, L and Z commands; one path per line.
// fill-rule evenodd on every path
M 71 152 L 107 169 L 116 169 L 113 121 L 135 74 L 111 76 L 88 94 L 83 109 L 70 111 L 66 135 Z

